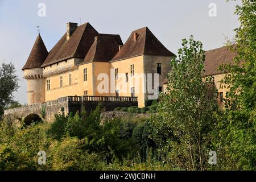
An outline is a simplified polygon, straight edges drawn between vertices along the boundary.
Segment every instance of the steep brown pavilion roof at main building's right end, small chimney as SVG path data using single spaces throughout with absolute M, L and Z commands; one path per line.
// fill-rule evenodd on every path
M 137 39 L 134 40 L 134 34 Z M 140 28 L 131 33 L 121 50 L 113 57 L 114 60 L 126 59 L 139 55 L 174 56 L 147 28 Z

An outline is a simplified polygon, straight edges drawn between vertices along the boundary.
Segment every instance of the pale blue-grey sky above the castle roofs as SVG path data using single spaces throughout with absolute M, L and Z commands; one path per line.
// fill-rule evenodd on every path
M 240 2 L 240 1 L 238 1 Z M 119 34 L 123 42 L 131 31 L 147 26 L 170 51 L 193 34 L 209 50 L 222 47 L 239 26 L 233 14 L 236 3 L 225 0 L 0 0 L 0 63 L 13 61 L 19 75 L 15 100 L 27 102 L 27 83 L 21 71 L 30 54 L 40 24 L 48 51 L 65 33 L 67 22 L 89 22 L 100 33 Z M 38 16 L 38 4 L 46 4 L 46 17 Z M 217 16 L 208 15 L 216 3 Z

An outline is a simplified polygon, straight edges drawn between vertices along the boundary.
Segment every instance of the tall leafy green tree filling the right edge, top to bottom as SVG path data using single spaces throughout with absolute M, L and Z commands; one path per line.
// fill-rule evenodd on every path
M 240 27 L 229 44 L 237 57 L 232 65 L 221 65 L 229 74 L 226 110 L 217 115 L 216 147 L 221 169 L 256 169 L 256 2 L 242 0 L 236 7 Z

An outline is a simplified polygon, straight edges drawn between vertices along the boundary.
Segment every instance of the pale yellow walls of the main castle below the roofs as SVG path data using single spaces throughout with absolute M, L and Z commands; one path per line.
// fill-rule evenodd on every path
M 34 95 L 28 93 L 28 104 L 57 100 L 65 96 L 133 96 L 138 97 L 138 106 L 144 107 L 148 96 L 152 95 L 147 89 L 149 76 L 152 77 L 152 89 L 154 88 L 154 75 L 147 74 L 156 73 L 157 64 L 161 64 L 159 85 L 156 87 L 162 87 L 164 78 L 170 72 L 170 60 L 171 57 L 168 56 L 141 55 L 118 61 L 82 63 L 82 59 L 76 58 L 61 61 L 37 69 L 43 78 L 40 82 L 32 81 L 36 85 L 28 80 L 28 88 L 40 92 L 40 99 L 36 100 Z M 115 78 L 117 69 L 118 78 Z

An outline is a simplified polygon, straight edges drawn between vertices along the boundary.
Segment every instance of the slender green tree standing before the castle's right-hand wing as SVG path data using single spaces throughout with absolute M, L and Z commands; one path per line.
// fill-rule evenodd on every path
M 171 61 L 167 94 L 160 97 L 152 121 L 153 139 L 173 167 L 203 170 L 216 109 L 213 80 L 203 78 L 203 44 L 191 36 L 183 39 L 182 46 Z

